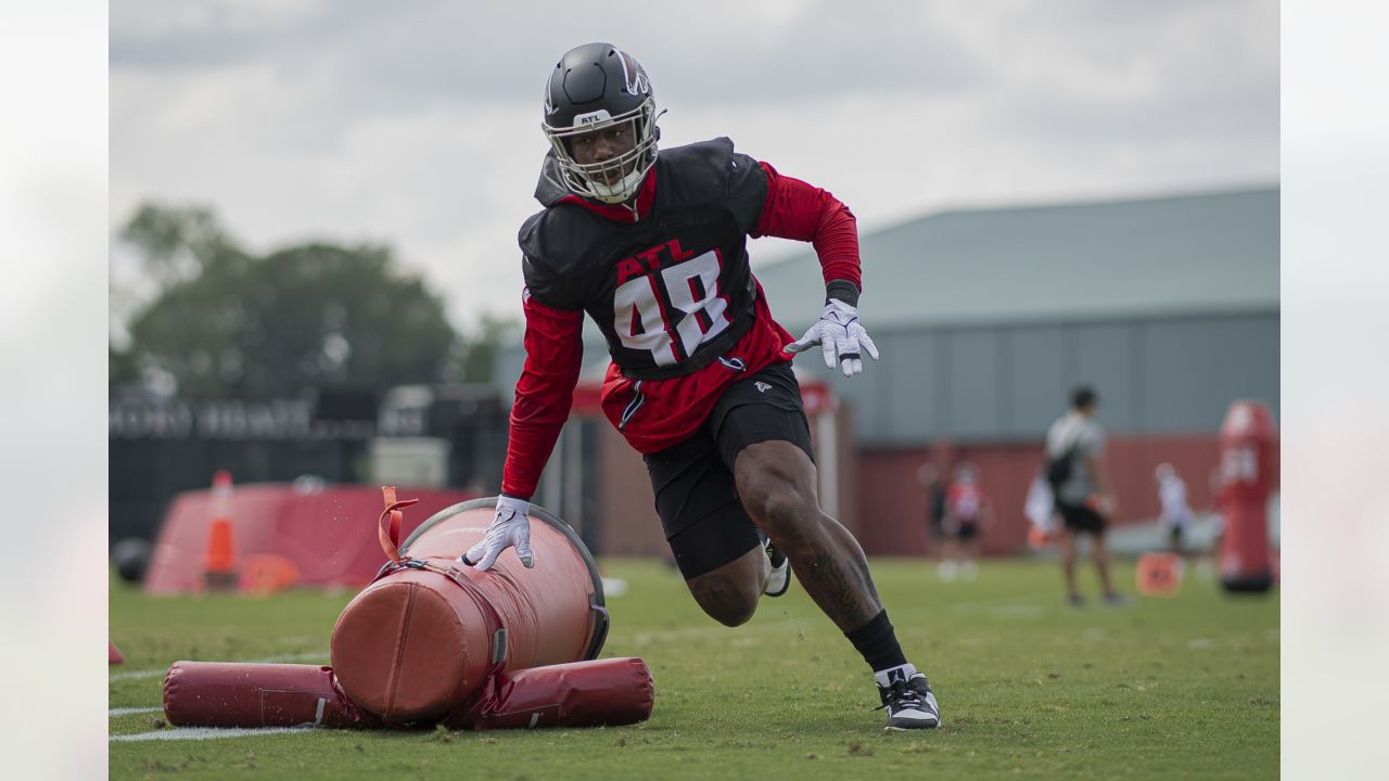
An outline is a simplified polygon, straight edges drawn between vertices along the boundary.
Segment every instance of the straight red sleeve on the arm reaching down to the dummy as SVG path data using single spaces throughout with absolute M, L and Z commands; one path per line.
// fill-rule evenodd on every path
M 583 313 L 525 296 L 525 367 L 517 379 L 501 493 L 531 499 L 564 421 L 583 361 Z

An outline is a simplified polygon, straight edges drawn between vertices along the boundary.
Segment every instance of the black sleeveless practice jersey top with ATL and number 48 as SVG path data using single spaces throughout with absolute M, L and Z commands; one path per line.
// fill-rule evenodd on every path
M 626 377 L 664 379 L 710 364 L 751 325 L 746 243 L 767 176 L 732 143 L 713 140 L 661 150 L 644 185 L 650 203 L 640 193 L 642 218 L 626 222 L 603 214 L 626 218 L 625 207 L 586 208 L 542 179 L 554 206 L 528 220 L 519 239 L 532 299 L 586 311 Z

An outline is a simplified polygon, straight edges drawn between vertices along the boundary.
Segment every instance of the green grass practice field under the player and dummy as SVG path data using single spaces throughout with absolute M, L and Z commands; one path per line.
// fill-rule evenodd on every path
M 1276 778 L 1278 595 L 1232 598 L 1188 577 L 1175 599 L 1072 609 L 1047 561 L 989 561 L 940 582 L 874 560 L 903 648 L 943 727 L 885 732 L 867 667 L 799 585 L 746 625 L 706 618 L 661 564 L 604 561 L 603 656 L 656 680 L 633 727 L 496 732 L 317 730 L 119 741 L 176 731 L 160 684 L 179 659 L 326 663 L 351 595 L 153 599 L 111 582 L 111 778 Z M 1117 564 L 1132 592 L 1131 563 Z M 1082 570 L 1093 593 L 1093 570 Z

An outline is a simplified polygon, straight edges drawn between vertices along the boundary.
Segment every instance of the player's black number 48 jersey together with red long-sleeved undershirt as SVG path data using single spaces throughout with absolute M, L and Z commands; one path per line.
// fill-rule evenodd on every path
M 857 300 L 853 214 L 832 195 L 736 153 L 728 139 L 663 149 L 626 206 L 560 183 L 547 156 L 546 207 L 519 232 L 526 363 L 517 382 L 501 489 L 535 491 L 568 417 L 586 313 L 607 339 L 608 420 L 642 453 L 694 432 L 728 384 L 774 361 L 793 338 L 767 309 L 747 238 L 811 240 L 835 295 Z

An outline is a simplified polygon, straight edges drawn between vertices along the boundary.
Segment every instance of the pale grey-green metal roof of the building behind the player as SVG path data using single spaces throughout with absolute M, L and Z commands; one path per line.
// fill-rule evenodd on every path
M 860 236 L 864 321 L 871 334 L 1276 311 L 1278 203 L 1271 186 L 932 214 Z M 797 335 L 818 315 L 814 252 L 756 275 Z

